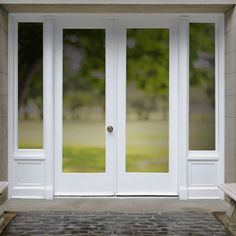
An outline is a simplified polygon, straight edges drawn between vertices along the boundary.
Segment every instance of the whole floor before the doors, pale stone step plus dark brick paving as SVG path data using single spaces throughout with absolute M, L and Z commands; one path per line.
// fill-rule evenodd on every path
M 3 235 L 230 235 L 210 213 L 220 200 L 161 198 L 10 199 L 0 209 L 16 211 Z M 162 213 L 160 213 L 162 212 Z

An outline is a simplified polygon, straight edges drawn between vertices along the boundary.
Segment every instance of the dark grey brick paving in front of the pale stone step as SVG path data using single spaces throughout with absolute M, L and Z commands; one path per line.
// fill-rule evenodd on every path
M 229 235 L 210 213 L 17 212 L 3 235 Z

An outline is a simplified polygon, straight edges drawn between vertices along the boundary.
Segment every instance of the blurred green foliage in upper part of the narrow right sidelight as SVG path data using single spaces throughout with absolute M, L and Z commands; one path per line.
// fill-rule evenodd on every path
M 212 106 L 215 104 L 215 27 L 213 23 L 190 24 L 190 93 L 204 89 Z M 190 97 L 191 99 L 191 97 Z M 195 97 L 193 97 L 195 100 Z

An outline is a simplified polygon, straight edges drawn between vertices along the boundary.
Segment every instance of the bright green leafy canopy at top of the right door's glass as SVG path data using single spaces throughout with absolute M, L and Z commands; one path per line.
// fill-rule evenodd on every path
M 147 94 L 168 95 L 169 31 L 127 30 L 127 80 Z

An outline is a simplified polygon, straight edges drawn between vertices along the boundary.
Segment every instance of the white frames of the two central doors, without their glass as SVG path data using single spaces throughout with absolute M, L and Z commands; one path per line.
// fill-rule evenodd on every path
M 55 186 L 57 195 L 178 195 L 178 25 L 166 17 L 142 20 L 63 19 L 55 23 Z M 106 26 L 107 25 L 107 26 Z M 64 28 L 106 27 L 106 174 L 62 173 L 62 30 Z M 125 113 L 126 113 L 126 28 L 169 29 L 169 171 L 168 173 L 125 172 Z M 122 33 L 123 34 L 122 34 Z M 117 38 L 115 37 L 117 36 Z M 116 43 L 118 48 L 116 49 Z M 109 47 L 110 46 L 110 47 Z M 115 55 L 115 52 L 118 52 Z M 117 63 L 116 63 L 117 60 Z M 117 65 L 116 75 L 115 67 Z M 115 76 L 116 75 L 116 76 Z M 116 81 L 119 81 L 117 83 Z M 115 86 L 117 85 L 117 87 Z M 118 90 L 118 93 L 117 93 Z M 117 93 L 117 94 L 116 94 Z M 116 100 L 117 98 L 117 100 Z M 116 109 L 117 107 L 117 109 Z M 116 115 L 116 110 L 117 115 Z M 116 146 L 117 145 L 117 146 Z M 116 150 L 117 147 L 117 150 Z M 114 163 L 117 163 L 115 165 Z M 114 175 L 114 173 L 117 173 Z M 158 180 L 158 181 L 156 181 Z M 73 189 L 69 191 L 69 189 Z M 93 191 L 91 191 L 91 189 Z M 102 191 L 101 191 L 102 189 Z M 110 190 L 109 190 L 110 189 Z

